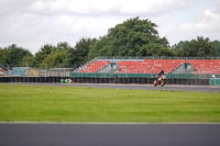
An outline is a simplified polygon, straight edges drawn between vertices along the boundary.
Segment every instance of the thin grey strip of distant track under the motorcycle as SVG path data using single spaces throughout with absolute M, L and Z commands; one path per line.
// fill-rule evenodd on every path
M 172 86 L 153 87 L 153 85 L 120 85 L 120 83 L 15 83 L 15 85 L 38 85 L 38 86 L 72 86 L 88 88 L 111 88 L 111 89 L 136 89 L 136 90 L 163 90 L 163 91 L 194 91 L 194 92 L 220 92 L 220 87 L 211 86 Z

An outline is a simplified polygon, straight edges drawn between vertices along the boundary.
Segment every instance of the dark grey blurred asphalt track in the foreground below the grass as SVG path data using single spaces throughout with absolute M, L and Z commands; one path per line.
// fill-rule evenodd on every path
M 219 146 L 220 124 L 0 124 L 0 146 Z

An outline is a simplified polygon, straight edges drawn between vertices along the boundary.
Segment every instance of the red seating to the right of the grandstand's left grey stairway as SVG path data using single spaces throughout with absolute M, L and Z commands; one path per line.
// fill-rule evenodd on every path
M 194 65 L 195 74 L 220 74 L 220 59 L 145 59 L 119 61 L 120 72 L 128 74 L 157 74 L 164 70 L 172 72 L 183 63 Z

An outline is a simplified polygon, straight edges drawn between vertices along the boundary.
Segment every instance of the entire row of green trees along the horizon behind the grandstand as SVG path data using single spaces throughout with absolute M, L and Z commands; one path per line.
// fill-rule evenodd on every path
M 170 46 L 166 37 L 158 36 L 156 26 L 147 19 L 133 18 L 99 38 L 81 38 L 75 46 L 66 42 L 46 44 L 34 55 L 12 44 L 0 47 L 0 66 L 77 68 L 98 56 L 220 57 L 220 41 L 198 36 Z

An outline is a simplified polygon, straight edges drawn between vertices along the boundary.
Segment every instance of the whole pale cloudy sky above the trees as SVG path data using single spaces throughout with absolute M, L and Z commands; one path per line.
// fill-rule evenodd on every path
M 45 44 L 75 46 L 135 16 L 156 23 L 170 45 L 197 36 L 220 41 L 219 0 L 0 0 L 0 47 L 35 54 Z

